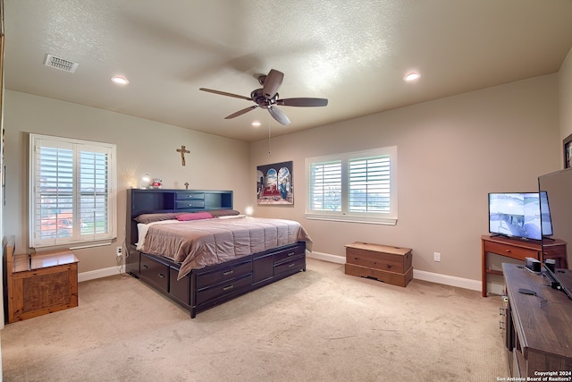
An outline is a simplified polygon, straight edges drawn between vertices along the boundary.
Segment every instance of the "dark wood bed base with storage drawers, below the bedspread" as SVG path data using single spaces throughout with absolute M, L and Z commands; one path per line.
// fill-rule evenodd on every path
M 197 313 L 306 270 L 306 243 L 296 242 L 200 269 L 177 280 L 180 264 L 130 246 L 129 273 Z M 136 264 L 137 263 L 137 264 Z

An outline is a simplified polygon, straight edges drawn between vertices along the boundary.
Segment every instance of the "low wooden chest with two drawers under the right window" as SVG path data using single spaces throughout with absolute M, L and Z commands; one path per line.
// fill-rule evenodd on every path
M 367 242 L 346 245 L 346 275 L 374 278 L 384 283 L 407 286 L 413 278 L 409 248 Z

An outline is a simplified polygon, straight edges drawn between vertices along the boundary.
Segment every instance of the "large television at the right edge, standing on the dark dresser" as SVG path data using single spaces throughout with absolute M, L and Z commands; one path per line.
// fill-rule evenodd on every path
M 572 299 L 572 168 L 561 170 L 556 173 L 545 174 L 538 177 L 538 189 L 546 193 L 550 199 L 550 215 L 552 238 L 543 238 L 543 253 L 549 252 L 553 242 L 552 239 L 559 239 L 567 243 L 566 261 L 560 261 L 560 267 L 553 271 L 550 267 L 544 267 L 544 273 L 553 281 L 559 289 L 568 294 Z M 541 203 L 541 213 L 547 213 L 546 208 Z M 544 225 L 543 221 L 543 225 Z M 544 259 L 543 259 L 544 260 Z

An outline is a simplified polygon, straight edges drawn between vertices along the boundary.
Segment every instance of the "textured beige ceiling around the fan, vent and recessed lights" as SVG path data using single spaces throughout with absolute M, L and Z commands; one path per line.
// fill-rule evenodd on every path
M 4 13 L 7 89 L 247 141 L 558 72 L 572 47 L 572 0 L 4 0 Z M 329 105 L 280 106 L 288 126 L 261 108 L 225 120 L 254 103 L 198 90 L 249 96 L 270 69 L 281 98 Z

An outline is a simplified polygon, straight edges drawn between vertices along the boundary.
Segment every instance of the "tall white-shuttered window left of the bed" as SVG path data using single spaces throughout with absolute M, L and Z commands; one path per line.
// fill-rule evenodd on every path
M 29 247 L 111 242 L 115 145 L 29 135 Z

